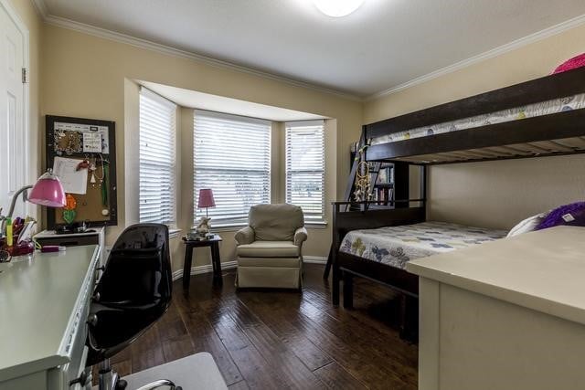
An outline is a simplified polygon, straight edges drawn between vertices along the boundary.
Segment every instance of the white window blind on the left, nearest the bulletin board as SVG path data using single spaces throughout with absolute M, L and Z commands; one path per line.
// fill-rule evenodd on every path
M 139 142 L 140 222 L 175 225 L 176 104 L 144 88 Z

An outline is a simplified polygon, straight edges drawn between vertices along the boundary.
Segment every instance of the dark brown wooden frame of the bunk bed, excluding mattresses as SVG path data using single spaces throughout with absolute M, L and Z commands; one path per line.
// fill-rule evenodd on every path
M 506 109 L 585 92 L 585 68 L 573 69 L 493 90 L 426 110 L 415 111 L 363 126 L 362 142 L 374 137 L 456 121 Z M 367 162 L 422 166 L 420 199 L 408 199 L 408 175 L 395 183 L 392 208 L 372 209 L 376 202 L 335 202 L 333 219 L 333 303 L 339 304 L 340 280 L 344 280 L 344 307 L 353 306 L 353 278 L 374 280 L 401 292 L 401 336 L 416 340 L 418 334 L 419 280 L 404 269 L 359 258 L 339 251 L 346 233 L 356 229 L 410 225 L 426 220 L 426 170 L 428 165 L 469 163 L 516 158 L 585 153 L 585 109 L 563 111 L 516 121 L 445 132 L 404 141 L 368 146 Z M 348 184 L 351 192 L 351 184 Z M 406 192 L 405 192 L 406 190 Z M 347 194 L 346 194 L 347 195 Z M 350 198 L 350 197 L 346 197 Z M 417 206 L 411 206 L 416 203 Z M 349 207 L 352 205 L 354 207 Z M 356 205 L 361 209 L 355 210 Z

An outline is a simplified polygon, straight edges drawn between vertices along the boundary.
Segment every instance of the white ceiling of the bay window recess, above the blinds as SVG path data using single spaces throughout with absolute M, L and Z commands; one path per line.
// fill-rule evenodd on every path
M 175 101 L 179 106 L 190 107 L 193 109 L 225 112 L 270 121 L 308 121 L 325 119 L 323 116 L 308 112 L 282 109 L 280 107 L 231 99 L 224 96 L 197 92 L 195 90 L 184 90 L 182 88 L 157 84 L 150 81 L 139 80 L 138 83 L 144 85 L 144 87 L 149 90 L 153 90 L 168 100 Z

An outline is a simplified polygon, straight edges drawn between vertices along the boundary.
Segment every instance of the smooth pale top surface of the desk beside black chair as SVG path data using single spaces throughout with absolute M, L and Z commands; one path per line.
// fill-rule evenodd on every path
M 70 247 L 0 264 L 0 381 L 69 361 L 66 335 L 98 254 Z

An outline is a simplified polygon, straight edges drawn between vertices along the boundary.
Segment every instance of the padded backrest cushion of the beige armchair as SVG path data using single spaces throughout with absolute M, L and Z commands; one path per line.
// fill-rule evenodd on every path
M 293 241 L 296 229 L 304 226 L 303 209 L 288 204 L 251 206 L 249 224 L 258 241 Z

